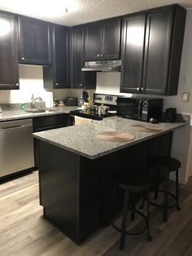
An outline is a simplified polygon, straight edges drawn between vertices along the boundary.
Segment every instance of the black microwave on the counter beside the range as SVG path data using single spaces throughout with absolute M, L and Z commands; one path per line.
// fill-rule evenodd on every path
M 164 99 L 121 98 L 117 97 L 116 112 L 119 117 L 138 121 L 160 121 Z

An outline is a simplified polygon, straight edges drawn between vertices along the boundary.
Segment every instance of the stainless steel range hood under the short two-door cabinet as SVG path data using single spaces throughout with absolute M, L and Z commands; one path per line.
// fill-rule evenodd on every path
M 96 60 L 85 62 L 82 71 L 120 71 L 121 60 Z

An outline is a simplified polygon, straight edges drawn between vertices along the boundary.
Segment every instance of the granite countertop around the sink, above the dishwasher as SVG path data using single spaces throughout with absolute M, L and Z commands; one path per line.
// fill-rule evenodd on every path
M 48 111 L 43 113 L 28 113 L 26 112 L 27 109 L 11 109 L 11 110 L 4 110 L 0 113 L 0 121 L 11 121 L 17 119 L 24 119 L 24 118 L 32 118 L 32 117 L 44 117 L 50 115 L 57 115 L 62 113 L 70 113 L 73 110 L 76 110 L 77 107 L 65 106 L 65 107 L 55 107 L 50 108 Z

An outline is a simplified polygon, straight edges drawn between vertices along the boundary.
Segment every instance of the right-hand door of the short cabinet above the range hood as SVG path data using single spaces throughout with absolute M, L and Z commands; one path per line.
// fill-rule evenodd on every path
M 120 59 L 120 31 L 120 18 L 103 21 L 101 58 L 105 60 Z

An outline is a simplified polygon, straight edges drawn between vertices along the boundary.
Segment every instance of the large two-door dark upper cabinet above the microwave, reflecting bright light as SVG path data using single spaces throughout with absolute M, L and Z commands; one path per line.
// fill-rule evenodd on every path
M 124 18 L 120 91 L 177 95 L 185 9 L 177 5 L 160 7 L 135 18 L 140 24 L 133 27 L 140 33 L 134 43 L 130 40 L 134 17 Z M 135 60 L 133 55 L 137 56 Z

